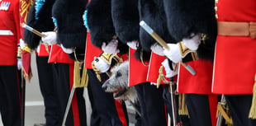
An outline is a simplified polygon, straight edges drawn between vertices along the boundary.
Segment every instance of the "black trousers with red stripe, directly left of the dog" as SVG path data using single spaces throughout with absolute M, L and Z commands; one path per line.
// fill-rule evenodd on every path
M 102 90 L 102 84 L 107 80 L 107 74 L 102 73 L 102 82 L 97 80 L 92 69 L 88 69 L 88 95 L 92 106 L 90 126 L 123 126 L 128 125 L 126 105 L 116 106 L 113 94 Z M 121 110 L 122 114 L 121 114 Z M 124 120 L 126 119 L 126 120 Z

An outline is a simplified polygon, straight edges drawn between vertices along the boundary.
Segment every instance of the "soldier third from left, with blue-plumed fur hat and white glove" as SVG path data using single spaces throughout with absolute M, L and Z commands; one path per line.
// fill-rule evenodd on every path
M 42 41 L 52 44 L 48 62 L 54 64 L 55 92 L 59 103 L 58 125 L 61 125 L 64 120 L 69 94 L 75 80 L 73 79 L 75 74 L 74 60 L 83 62 L 86 29 L 83 27 L 82 16 L 86 5 L 86 0 L 76 2 L 56 0 L 52 9 L 56 31 L 43 33 L 46 36 L 42 38 Z M 83 87 L 77 87 L 73 94 L 65 125 L 86 126 L 86 117 Z

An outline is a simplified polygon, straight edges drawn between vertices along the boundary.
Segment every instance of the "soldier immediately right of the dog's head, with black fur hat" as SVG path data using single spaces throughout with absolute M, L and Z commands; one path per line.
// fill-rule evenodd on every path
M 165 126 L 167 125 L 167 113 L 162 98 L 163 86 L 157 89 L 156 86 L 147 81 L 150 52 L 143 50 L 140 43 L 140 40 L 151 39 L 150 36 L 144 36 L 140 39 L 139 25 L 140 12 L 143 13 L 152 9 L 149 7 L 149 2 L 152 1 L 112 0 L 111 15 L 117 37 L 130 46 L 129 86 L 135 86 L 139 97 L 141 124 L 143 126 Z M 138 3 L 140 3 L 140 10 L 138 9 Z M 154 16 L 159 16 L 158 11 L 155 11 L 154 14 Z

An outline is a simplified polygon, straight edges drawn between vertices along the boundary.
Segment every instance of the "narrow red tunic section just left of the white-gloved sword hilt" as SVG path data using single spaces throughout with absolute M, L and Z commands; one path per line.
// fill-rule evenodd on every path
M 162 62 L 164 62 L 164 59 L 166 59 L 166 57 L 151 53 L 147 82 L 157 83 L 157 79 L 159 77 L 159 68 L 162 66 Z M 164 71 L 164 74 L 165 74 L 165 71 Z M 168 78 L 166 79 L 168 80 Z M 162 81 L 161 84 L 166 84 L 166 83 Z

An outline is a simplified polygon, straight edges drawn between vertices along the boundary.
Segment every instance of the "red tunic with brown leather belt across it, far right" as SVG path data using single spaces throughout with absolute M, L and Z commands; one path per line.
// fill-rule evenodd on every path
M 255 0 L 219 0 L 218 21 L 256 21 Z M 218 35 L 212 91 L 252 94 L 256 74 L 256 40 L 246 36 Z

